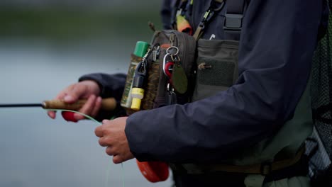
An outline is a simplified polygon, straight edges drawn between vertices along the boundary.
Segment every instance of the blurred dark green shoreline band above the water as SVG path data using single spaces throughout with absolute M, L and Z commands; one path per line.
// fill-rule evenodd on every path
M 148 21 L 161 29 L 159 10 L 148 6 L 129 8 L 125 3 L 105 7 L 0 6 L 0 39 L 89 40 L 117 35 L 151 35 Z

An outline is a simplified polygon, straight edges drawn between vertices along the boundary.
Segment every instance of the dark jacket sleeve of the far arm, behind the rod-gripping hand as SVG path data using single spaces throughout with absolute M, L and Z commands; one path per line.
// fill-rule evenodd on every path
M 126 83 L 126 74 L 103 74 L 94 73 L 86 74 L 79 78 L 79 81 L 92 80 L 96 81 L 101 90 L 100 96 L 102 98 L 113 97 L 116 99 L 116 109 L 114 111 L 99 111 L 96 120 L 109 119 L 112 116 L 125 115 L 125 111 L 120 106 L 121 97 L 123 94 L 123 89 Z

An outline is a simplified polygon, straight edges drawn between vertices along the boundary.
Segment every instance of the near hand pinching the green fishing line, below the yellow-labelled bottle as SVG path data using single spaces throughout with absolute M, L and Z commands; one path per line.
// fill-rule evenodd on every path
M 99 138 L 99 145 L 106 147 L 106 154 L 113 155 L 113 162 L 119 164 L 128 159 L 133 159 L 124 132 L 128 117 L 116 118 L 115 120 L 103 120 L 94 133 Z

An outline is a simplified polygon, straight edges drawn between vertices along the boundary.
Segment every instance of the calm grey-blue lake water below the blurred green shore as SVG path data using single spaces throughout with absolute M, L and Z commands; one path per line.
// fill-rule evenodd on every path
M 92 72 L 126 72 L 137 38 L 57 43 L 0 40 L 0 103 L 40 103 Z M 119 45 L 121 44 L 121 45 Z M 0 108 L 0 186 L 170 186 L 150 183 L 135 160 L 113 164 L 94 135 L 96 124 L 51 120 L 42 108 Z M 109 168 L 109 175 L 106 170 Z

